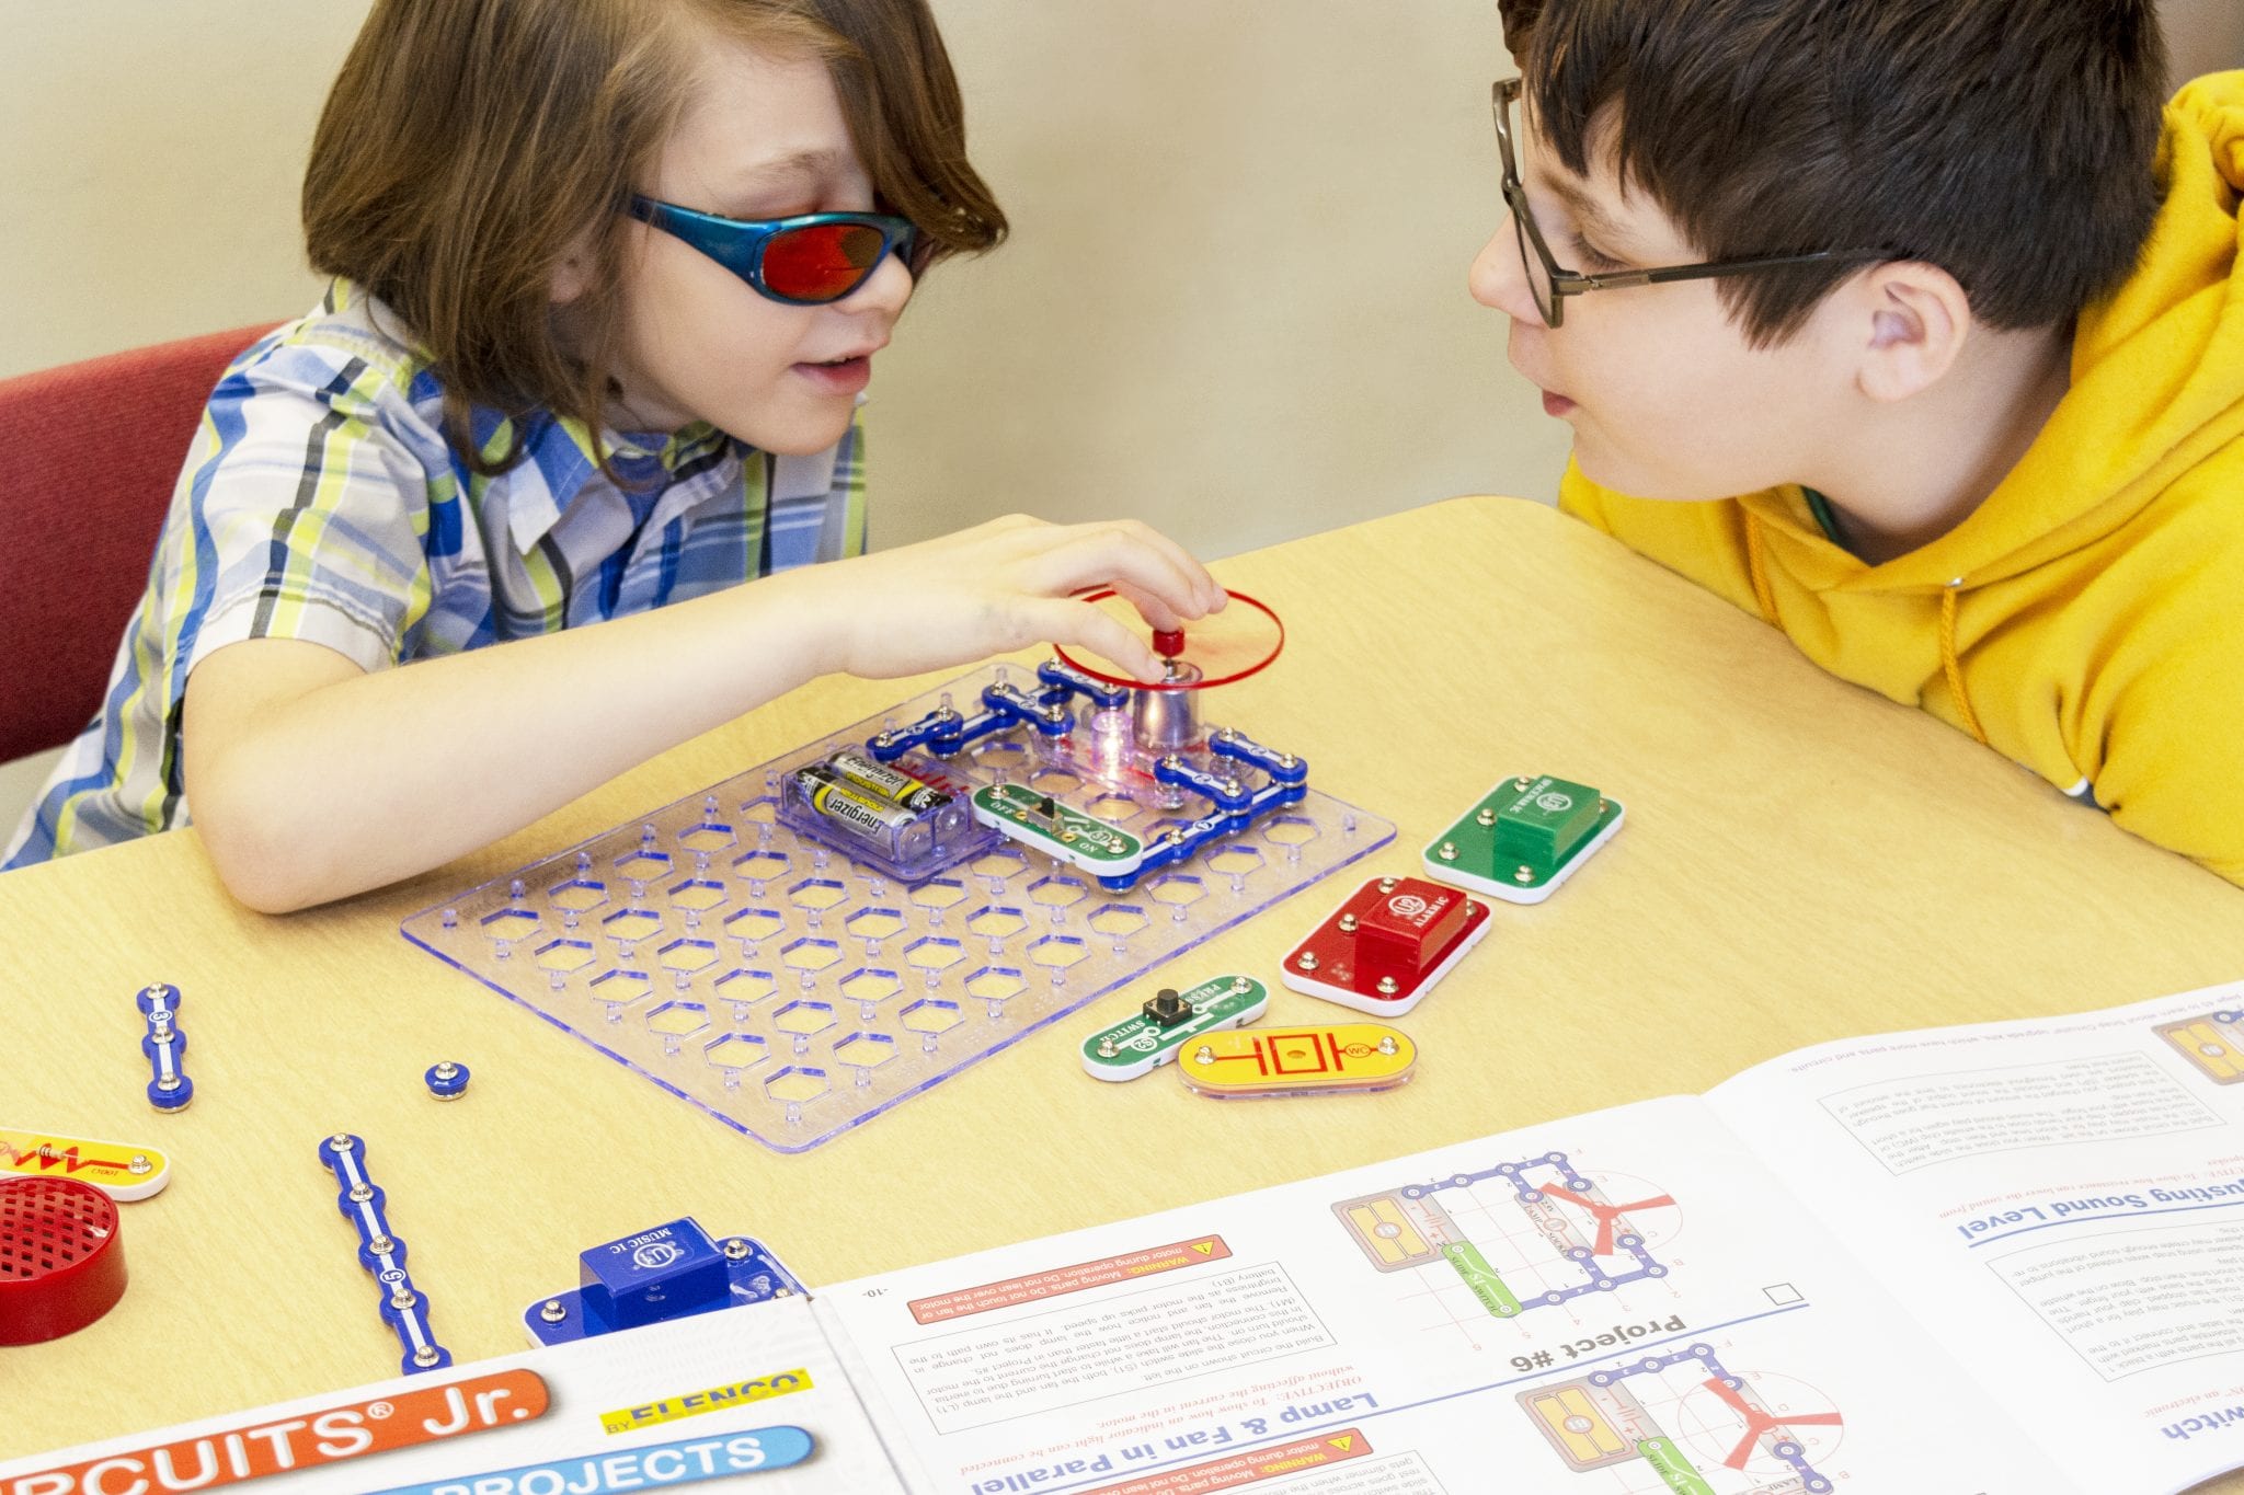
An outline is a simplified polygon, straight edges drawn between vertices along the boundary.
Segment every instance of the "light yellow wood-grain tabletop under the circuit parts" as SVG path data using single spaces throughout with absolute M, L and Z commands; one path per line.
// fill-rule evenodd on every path
M 781 1157 L 408 946 L 447 892 L 666 805 L 936 684 L 835 679 L 666 753 L 480 856 L 260 917 L 193 832 L 0 876 L 0 1123 L 144 1139 L 171 1188 L 126 1206 L 132 1287 L 99 1325 L 0 1349 L 0 1457 L 397 1367 L 316 1148 L 368 1143 L 460 1361 L 577 1251 L 693 1215 L 808 1282 L 945 1257 L 1696 1092 L 1883 1029 L 2073 1013 L 2244 975 L 2244 892 L 1932 717 L 1845 686 L 1757 619 L 1519 500 L 1456 500 L 1239 556 L 1218 576 L 1288 648 L 1216 719 L 1302 751 L 1396 841 L 1194 955 L 1275 975 L 1342 888 L 1409 872 L 1499 776 L 1548 771 L 1629 825 L 1407 1020 L 1418 1083 L 1355 1103 L 1210 1107 L 1097 1085 L 1113 993 L 808 1154 Z M 148 1109 L 132 993 L 184 991 L 195 1103 Z M 1272 982 L 1275 986 L 1275 982 Z M 1337 1009 L 1277 991 L 1272 1022 Z M 422 1069 L 471 1065 L 438 1105 Z M 1203 1139 L 1178 1152 L 1176 1139 Z M 2244 1477 L 2219 1488 L 2244 1491 Z

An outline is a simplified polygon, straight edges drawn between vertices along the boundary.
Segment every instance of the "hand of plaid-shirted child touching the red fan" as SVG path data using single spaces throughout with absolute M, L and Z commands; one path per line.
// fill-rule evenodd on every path
M 940 540 L 792 572 L 830 639 L 824 670 L 868 679 L 918 675 L 1073 643 L 1140 679 L 1160 679 L 1153 650 L 1075 594 L 1113 587 L 1156 628 L 1216 612 L 1223 587 L 1176 540 L 1138 520 L 1046 524 L 1008 516 Z M 767 583 L 765 583 L 767 585 Z

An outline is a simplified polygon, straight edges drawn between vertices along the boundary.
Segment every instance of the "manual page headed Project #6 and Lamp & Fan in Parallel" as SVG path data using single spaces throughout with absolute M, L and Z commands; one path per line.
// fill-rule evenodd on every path
M 819 1311 L 916 1495 L 2148 1488 L 2044 1461 L 1878 1269 L 1672 1098 L 866 1278 Z

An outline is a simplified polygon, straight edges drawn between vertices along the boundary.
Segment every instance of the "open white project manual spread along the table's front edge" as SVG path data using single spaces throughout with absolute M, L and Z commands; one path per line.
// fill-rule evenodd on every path
M 507 1367 L 539 1381 L 539 1417 L 478 1430 L 473 1396 L 442 1401 L 447 1378 Z M 319 1401 L 361 1408 L 334 1443 L 379 1390 Z M 2244 1464 L 2244 984 L 1822 1044 L 1705 1096 L 404 1394 L 471 1437 L 307 1455 L 276 1482 L 2163 1495 Z M 274 1423 L 323 1428 L 312 1401 Z M 193 1470 L 202 1439 L 224 1464 L 224 1430 L 249 1426 L 0 1466 L 0 1495 L 206 1488 L 159 1482 L 150 1450 Z

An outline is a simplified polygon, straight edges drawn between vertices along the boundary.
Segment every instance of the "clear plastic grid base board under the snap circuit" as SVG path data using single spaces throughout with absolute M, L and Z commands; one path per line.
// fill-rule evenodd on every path
M 444 899 L 404 935 L 734 1130 L 806 1152 L 1394 841 L 1310 782 L 1129 892 L 1017 843 L 900 885 L 776 820 L 783 767 L 1008 679 L 1023 670 L 902 702 Z M 1120 798 L 1026 726 L 945 769 L 1140 834 L 1205 809 Z

